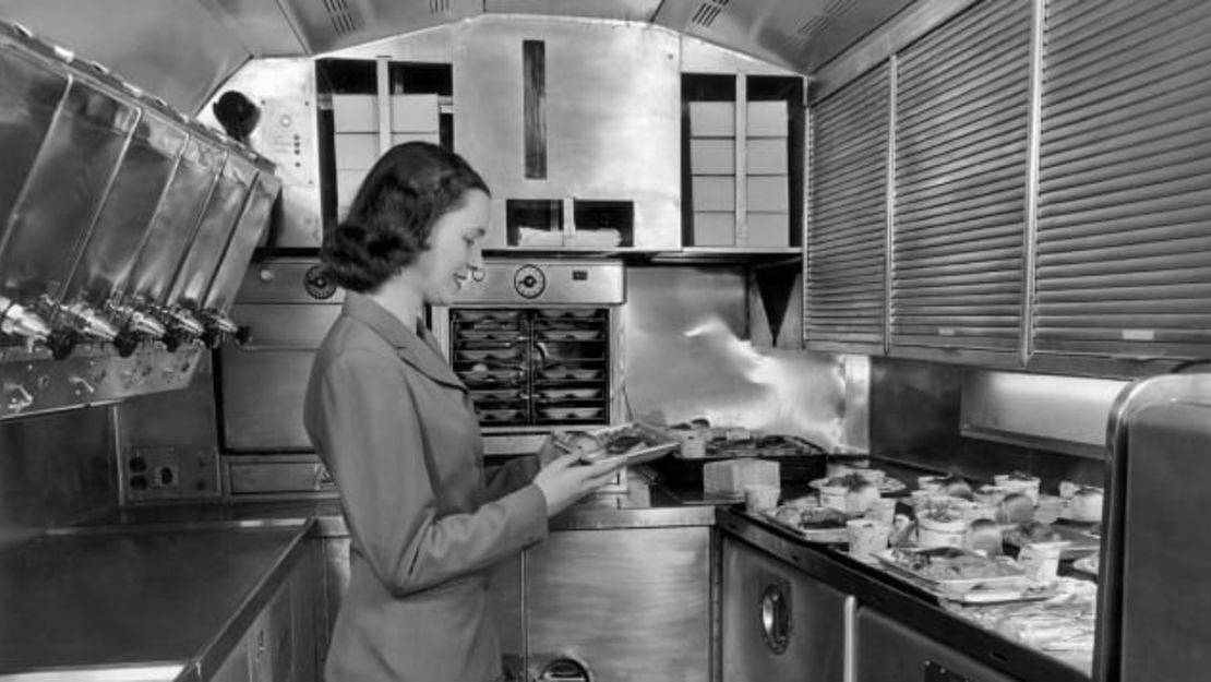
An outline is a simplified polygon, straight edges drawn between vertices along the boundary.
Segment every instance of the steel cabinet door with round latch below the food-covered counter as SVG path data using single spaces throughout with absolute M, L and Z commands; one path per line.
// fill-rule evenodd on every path
M 845 595 L 731 538 L 722 581 L 723 682 L 840 682 Z

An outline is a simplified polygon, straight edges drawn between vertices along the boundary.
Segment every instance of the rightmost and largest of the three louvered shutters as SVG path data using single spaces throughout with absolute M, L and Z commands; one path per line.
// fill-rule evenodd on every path
M 1211 2 L 1054 1 L 1034 348 L 1211 354 Z

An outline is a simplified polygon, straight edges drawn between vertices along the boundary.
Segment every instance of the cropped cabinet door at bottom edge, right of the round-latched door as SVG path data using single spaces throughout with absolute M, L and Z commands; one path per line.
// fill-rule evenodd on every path
M 857 682 L 1012 682 L 882 613 L 857 612 Z

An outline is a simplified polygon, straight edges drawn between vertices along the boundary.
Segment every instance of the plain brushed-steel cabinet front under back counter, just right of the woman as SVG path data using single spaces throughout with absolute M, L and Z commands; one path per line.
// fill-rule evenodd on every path
M 708 680 L 710 532 L 566 531 L 527 551 L 530 678 Z

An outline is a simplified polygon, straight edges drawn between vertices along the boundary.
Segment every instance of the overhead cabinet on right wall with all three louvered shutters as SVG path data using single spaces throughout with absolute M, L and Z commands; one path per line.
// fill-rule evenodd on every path
M 1209 30 L 1196 0 L 985 0 L 814 102 L 809 346 L 1207 355 Z

